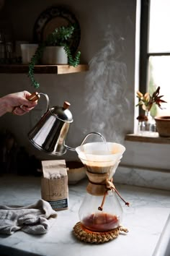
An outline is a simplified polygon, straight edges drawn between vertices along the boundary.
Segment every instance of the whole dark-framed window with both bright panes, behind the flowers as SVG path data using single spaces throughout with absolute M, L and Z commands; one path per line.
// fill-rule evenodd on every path
M 140 20 L 140 92 L 153 93 L 160 86 L 164 95 L 160 110 L 153 116 L 170 116 L 170 1 L 141 0 Z

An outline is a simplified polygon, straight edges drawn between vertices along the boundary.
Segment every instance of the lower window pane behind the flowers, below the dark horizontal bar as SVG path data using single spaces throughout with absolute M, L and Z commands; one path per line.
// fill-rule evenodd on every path
M 167 103 L 162 103 L 161 110 L 153 108 L 153 116 L 170 116 L 170 56 L 151 56 L 149 58 L 148 91 L 152 94 L 160 86 L 160 95 Z

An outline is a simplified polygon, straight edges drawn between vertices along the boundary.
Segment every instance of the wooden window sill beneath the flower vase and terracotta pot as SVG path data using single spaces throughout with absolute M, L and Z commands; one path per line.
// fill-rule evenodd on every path
M 150 136 L 150 135 L 143 136 L 143 135 L 137 135 L 137 134 L 129 134 L 129 135 L 125 135 L 125 140 L 131 141 L 131 142 L 170 144 L 170 137 L 159 137 L 157 132 L 154 136 Z

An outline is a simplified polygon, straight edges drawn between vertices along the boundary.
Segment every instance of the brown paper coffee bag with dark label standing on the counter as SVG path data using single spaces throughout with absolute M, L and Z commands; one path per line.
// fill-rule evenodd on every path
M 42 161 L 41 196 L 53 210 L 68 209 L 68 176 L 65 160 Z

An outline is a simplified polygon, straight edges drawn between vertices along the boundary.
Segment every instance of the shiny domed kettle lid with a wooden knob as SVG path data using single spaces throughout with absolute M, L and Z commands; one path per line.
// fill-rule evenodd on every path
M 50 112 L 58 119 L 71 123 L 73 121 L 73 116 L 71 111 L 68 109 L 69 106 L 71 106 L 71 104 L 68 101 L 64 101 L 63 107 L 53 106 L 53 108 L 50 108 Z

